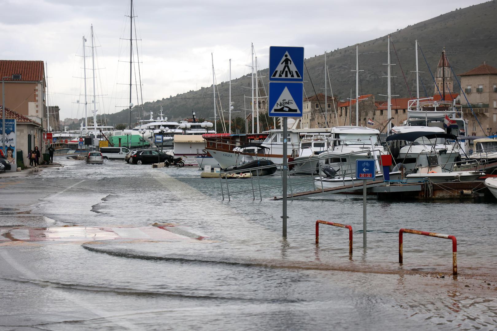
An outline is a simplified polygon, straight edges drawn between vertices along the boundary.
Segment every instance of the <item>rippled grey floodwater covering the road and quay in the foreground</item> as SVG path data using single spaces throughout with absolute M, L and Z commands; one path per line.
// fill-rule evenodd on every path
M 195 168 L 55 161 L 0 177 L 0 331 L 496 328 L 497 203 L 370 199 L 364 250 L 362 197 L 289 202 L 284 240 L 281 201 Z M 402 227 L 456 236 L 459 275 L 446 239 L 405 234 L 399 265 Z

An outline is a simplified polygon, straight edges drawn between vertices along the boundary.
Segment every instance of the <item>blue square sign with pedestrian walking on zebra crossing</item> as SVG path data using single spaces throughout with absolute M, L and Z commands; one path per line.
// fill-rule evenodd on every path
M 304 81 L 303 47 L 269 47 L 270 81 Z

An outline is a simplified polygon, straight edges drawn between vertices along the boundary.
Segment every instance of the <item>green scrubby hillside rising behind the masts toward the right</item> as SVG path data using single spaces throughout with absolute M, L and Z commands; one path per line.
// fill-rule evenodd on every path
M 409 13 L 406 13 L 409 15 Z M 426 57 L 431 70 L 434 69 L 440 59 L 441 51 L 445 47 L 447 57 L 456 74 L 465 72 L 486 61 L 491 66 L 497 66 L 497 4 L 496 1 L 489 1 L 478 5 L 473 5 L 463 9 L 457 9 L 429 20 L 405 27 L 398 31 L 392 32 L 391 37 L 394 48 L 391 47 L 392 74 L 397 76 L 393 78 L 392 93 L 399 94 L 402 97 L 409 96 L 408 88 L 401 72 L 401 66 L 404 70 L 411 93 L 415 95 L 415 75 L 411 71 L 415 70 L 415 52 L 414 40 L 418 40 L 421 49 Z M 398 59 L 397 59 L 398 57 Z M 375 99 L 379 100 L 384 97 L 378 94 L 386 94 L 387 79 L 386 66 L 382 64 L 387 62 L 387 36 L 366 41 L 359 44 L 359 67 L 364 70 L 360 73 L 360 94 L 374 94 Z M 305 61 L 309 74 L 304 69 L 305 92 L 307 95 L 314 95 L 311 81 L 316 91 L 319 93 L 324 87 L 324 55 L 307 58 Z M 350 95 L 350 89 L 355 90 L 355 45 L 337 49 L 327 55 L 327 63 L 331 76 L 331 88 L 333 94 L 339 99 L 346 99 Z M 400 66 L 399 66 L 400 63 Z M 433 81 L 426 66 L 425 60 L 419 51 L 419 70 L 421 79 L 426 87 L 428 95 L 433 94 Z M 266 76 L 264 85 L 267 87 L 267 69 L 262 70 L 262 75 Z M 235 102 L 235 110 L 242 110 L 244 107 L 244 93 L 248 96 L 250 90 L 244 88 L 249 86 L 250 76 L 246 75 L 233 82 L 238 84 L 232 85 L 232 101 Z M 455 83 L 454 86 L 457 86 Z M 228 84 L 219 84 L 219 93 L 221 96 L 223 109 L 228 109 Z M 422 86 L 420 87 L 422 90 Z M 455 92 L 459 92 L 459 89 Z M 354 92 L 352 92 L 354 93 Z M 421 95 L 425 95 L 422 91 Z M 149 117 L 149 111 L 154 111 L 157 116 L 158 111 L 164 106 L 166 116 L 169 120 L 179 120 L 190 117 L 194 111 L 198 117 L 212 118 L 214 116 L 212 101 L 212 85 L 202 87 L 197 91 L 190 91 L 177 96 L 147 102 L 144 105 L 145 113 L 142 118 Z M 247 108 L 250 106 L 247 105 Z M 128 123 L 128 111 L 111 114 L 107 116 L 107 122 L 115 125 L 118 123 Z M 137 112 L 134 112 L 136 117 Z M 242 115 L 240 115 L 242 114 Z M 237 116 L 243 116 L 237 113 Z

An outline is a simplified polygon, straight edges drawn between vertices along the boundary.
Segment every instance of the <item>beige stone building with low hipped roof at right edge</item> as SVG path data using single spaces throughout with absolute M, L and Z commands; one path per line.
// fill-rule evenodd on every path
M 461 94 L 464 92 L 471 105 L 462 99 L 464 118 L 469 122 L 468 133 L 488 135 L 497 132 L 497 68 L 484 63 L 459 76 Z

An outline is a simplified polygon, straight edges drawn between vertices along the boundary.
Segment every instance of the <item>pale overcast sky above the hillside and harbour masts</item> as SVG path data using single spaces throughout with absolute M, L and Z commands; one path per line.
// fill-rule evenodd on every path
M 113 113 L 129 103 L 129 0 L 0 0 L 0 58 L 42 60 L 49 104 L 61 119 L 84 116 L 82 37 L 96 42 L 97 109 Z M 313 57 L 378 38 L 410 24 L 481 0 L 134 0 L 143 98 L 153 101 L 247 74 L 250 43 L 260 69 L 269 46 L 303 46 Z M 86 55 L 91 48 L 85 48 Z M 91 67 L 91 58 L 86 66 Z M 93 93 L 91 70 L 87 94 Z M 136 100 L 136 93 L 133 93 Z M 80 104 L 76 101 L 80 100 Z M 92 97 L 88 97 L 88 116 Z M 136 101 L 134 101 L 137 104 Z M 117 106 L 117 107 L 116 107 Z

